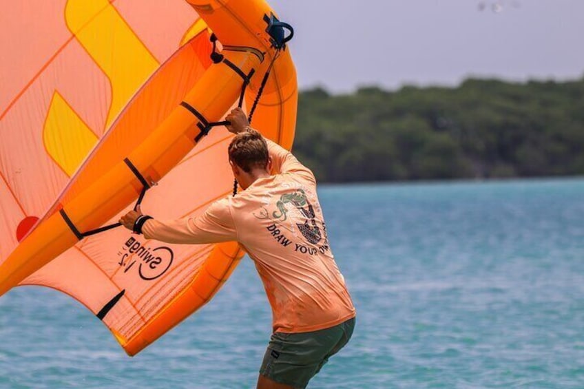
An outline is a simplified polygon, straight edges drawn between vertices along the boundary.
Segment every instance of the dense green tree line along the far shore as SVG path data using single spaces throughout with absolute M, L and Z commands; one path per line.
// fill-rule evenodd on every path
M 300 93 L 294 153 L 322 182 L 584 174 L 584 78 Z

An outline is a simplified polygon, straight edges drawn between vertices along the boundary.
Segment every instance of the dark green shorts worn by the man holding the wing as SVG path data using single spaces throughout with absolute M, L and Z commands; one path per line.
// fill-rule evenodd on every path
M 310 333 L 273 333 L 260 374 L 294 388 L 305 388 L 328 358 L 347 344 L 353 328 L 354 317 Z

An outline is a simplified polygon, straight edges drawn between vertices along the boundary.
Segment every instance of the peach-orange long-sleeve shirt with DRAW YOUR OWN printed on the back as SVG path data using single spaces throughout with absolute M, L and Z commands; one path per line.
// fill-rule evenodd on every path
M 267 143 L 279 174 L 214 202 L 197 218 L 148 220 L 144 236 L 187 244 L 236 240 L 262 278 L 274 332 L 335 326 L 354 317 L 355 307 L 328 244 L 316 180 L 289 151 Z

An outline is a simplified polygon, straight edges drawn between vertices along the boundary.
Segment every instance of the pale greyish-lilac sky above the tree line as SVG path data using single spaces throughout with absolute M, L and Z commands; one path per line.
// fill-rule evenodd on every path
M 269 3 L 295 28 L 290 48 L 301 89 L 321 85 L 339 93 L 362 85 L 453 86 L 468 76 L 584 75 L 584 0 Z

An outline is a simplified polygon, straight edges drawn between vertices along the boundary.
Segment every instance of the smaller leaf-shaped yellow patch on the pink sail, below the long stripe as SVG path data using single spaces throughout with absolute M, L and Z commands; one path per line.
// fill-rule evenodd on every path
M 67 176 L 74 174 L 97 140 L 63 96 L 55 92 L 43 128 L 43 142 L 48 154 Z

